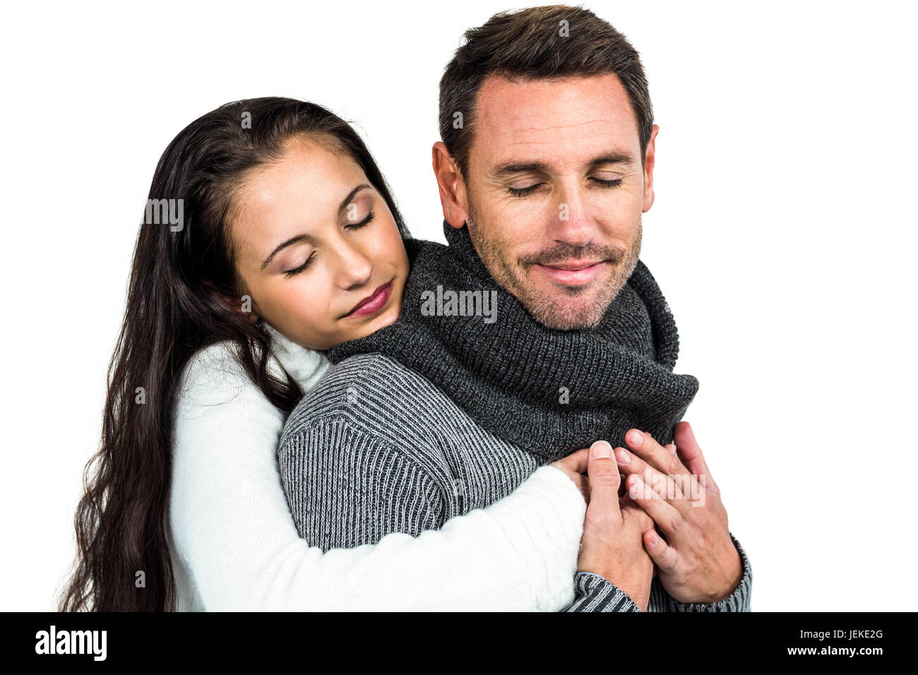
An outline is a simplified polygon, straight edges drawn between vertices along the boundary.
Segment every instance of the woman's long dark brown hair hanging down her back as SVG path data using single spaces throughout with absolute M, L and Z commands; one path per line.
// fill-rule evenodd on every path
M 280 158 L 285 142 L 298 135 L 332 141 L 351 156 L 386 200 L 402 237 L 409 237 L 364 141 L 324 107 L 289 98 L 236 101 L 175 137 L 153 174 L 153 207 L 134 249 L 124 321 L 108 366 L 101 446 L 86 465 L 76 510 L 77 558 L 62 612 L 174 610 L 167 538 L 173 399 L 177 378 L 197 350 L 229 340 L 276 407 L 290 411 L 301 396 L 295 382 L 267 370 L 268 334 L 233 309 L 241 301 L 227 228 L 246 173 Z M 172 205 L 181 222 L 156 218 L 163 204 Z M 139 570 L 145 588 L 135 587 Z

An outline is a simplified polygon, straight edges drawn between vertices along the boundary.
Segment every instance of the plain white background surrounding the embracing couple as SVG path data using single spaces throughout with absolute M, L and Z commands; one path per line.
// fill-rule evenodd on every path
M 767 610 L 913 609 L 915 51 L 907 3 L 590 9 L 641 52 L 660 132 L 643 259 L 679 325 L 687 418 Z M 364 135 L 442 241 L 437 84 L 511 6 L 6 9 L 0 609 L 50 610 L 101 426 L 153 168 L 192 119 L 293 96 Z

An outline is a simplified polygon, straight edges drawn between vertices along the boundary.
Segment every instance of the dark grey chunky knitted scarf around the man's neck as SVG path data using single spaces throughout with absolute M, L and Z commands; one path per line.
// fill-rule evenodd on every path
M 558 331 L 532 319 L 498 286 L 467 228 L 444 222 L 443 231 L 449 246 L 405 242 L 411 271 L 398 321 L 334 347 L 332 363 L 386 354 L 429 379 L 488 432 L 544 461 L 599 439 L 623 445 L 632 427 L 660 443 L 672 441 L 698 380 L 673 374 L 676 323 L 644 263 L 599 325 Z M 482 291 L 488 298 L 496 291 L 492 320 L 453 315 L 449 290 Z

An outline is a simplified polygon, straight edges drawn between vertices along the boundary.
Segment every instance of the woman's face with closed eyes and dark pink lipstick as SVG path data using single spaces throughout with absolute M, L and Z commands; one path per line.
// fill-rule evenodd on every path
M 408 255 L 386 201 L 348 155 L 297 138 L 245 178 L 234 202 L 229 235 L 254 315 L 320 350 L 397 320 Z

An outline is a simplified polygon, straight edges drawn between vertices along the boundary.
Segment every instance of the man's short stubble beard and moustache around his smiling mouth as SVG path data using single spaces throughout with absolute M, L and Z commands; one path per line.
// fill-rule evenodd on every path
M 546 328 L 570 331 L 597 325 L 606 315 L 612 302 L 618 297 L 621 288 L 628 283 L 641 254 L 642 219 L 639 214 L 635 230 L 636 237 L 633 245 L 625 253 L 618 249 L 601 248 L 588 244 L 582 247 L 559 247 L 553 249 L 548 255 L 540 253 L 522 262 L 521 267 L 524 269 L 531 269 L 532 264 L 536 262 L 551 264 L 581 257 L 601 258 L 613 263 L 610 280 L 599 288 L 599 293 L 593 301 L 568 306 L 558 303 L 551 295 L 527 283 L 525 276 L 518 273 L 520 268 L 509 264 L 498 244 L 482 236 L 476 221 L 475 208 L 469 199 L 469 213 L 465 225 L 481 262 L 485 264 L 498 285 L 520 300 L 521 305 L 532 315 L 532 318 Z M 559 287 L 559 291 L 576 298 L 584 294 L 585 287 Z

